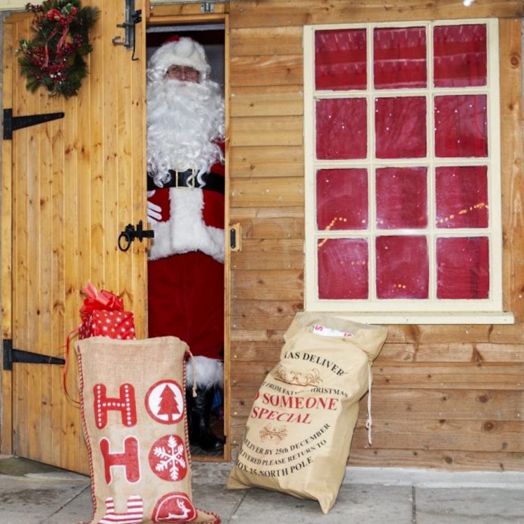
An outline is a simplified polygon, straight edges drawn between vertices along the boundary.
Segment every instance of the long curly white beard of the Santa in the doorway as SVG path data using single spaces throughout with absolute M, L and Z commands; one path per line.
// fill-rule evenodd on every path
M 147 87 L 147 172 L 161 187 L 168 170 L 207 173 L 224 157 L 224 99 L 212 80 L 157 80 Z

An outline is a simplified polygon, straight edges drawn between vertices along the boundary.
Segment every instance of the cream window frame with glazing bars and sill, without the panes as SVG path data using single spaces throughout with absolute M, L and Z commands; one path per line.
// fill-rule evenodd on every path
M 487 82 L 481 87 L 446 87 L 432 85 L 432 28 L 452 24 L 486 24 Z M 373 29 L 383 27 L 425 27 L 426 60 L 428 64 L 427 87 L 423 89 L 374 89 L 373 87 Z M 330 29 L 365 29 L 367 41 L 367 89 L 315 90 L 314 34 Z M 513 323 L 511 312 L 502 310 L 502 194 L 500 163 L 500 85 L 499 85 L 499 31 L 496 19 L 435 20 L 432 22 L 384 22 L 370 24 L 321 24 L 303 28 L 304 48 L 304 152 L 305 152 L 305 309 L 309 311 L 336 312 L 357 317 L 370 323 Z M 434 104 L 433 97 L 441 94 L 486 94 L 488 101 L 487 158 L 436 158 L 433 155 Z M 379 96 L 425 96 L 427 116 L 427 156 L 412 161 L 374 158 L 374 99 Z M 367 99 L 367 159 L 317 160 L 315 140 L 315 102 L 318 99 L 358 98 Z M 460 229 L 435 227 L 435 168 L 438 166 L 488 166 L 488 228 Z M 379 167 L 427 166 L 428 167 L 428 228 L 410 230 L 378 230 L 374 224 L 374 170 Z M 326 168 L 366 168 L 368 172 L 369 228 L 365 231 L 319 231 L 316 228 L 316 170 Z M 377 299 L 375 297 L 375 247 L 374 239 L 381 235 L 425 235 L 428 238 L 430 271 L 430 298 L 428 299 Z M 488 236 L 490 292 L 487 299 L 437 299 L 435 268 L 435 236 L 464 237 Z M 367 238 L 368 289 L 366 300 L 326 300 L 318 298 L 317 245 L 319 238 Z

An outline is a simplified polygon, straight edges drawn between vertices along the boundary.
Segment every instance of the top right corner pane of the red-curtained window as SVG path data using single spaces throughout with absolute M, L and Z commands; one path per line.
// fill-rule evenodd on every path
M 436 87 L 486 85 L 486 25 L 446 25 L 433 31 Z

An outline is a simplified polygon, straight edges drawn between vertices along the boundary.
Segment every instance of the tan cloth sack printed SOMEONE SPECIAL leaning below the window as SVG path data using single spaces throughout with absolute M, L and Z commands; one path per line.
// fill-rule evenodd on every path
M 279 363 L 256 395 L 228 488 L 310 498 L 328 513 L 346 471 L 358 400 L 386 333 L 328 314 L 298 313 Z

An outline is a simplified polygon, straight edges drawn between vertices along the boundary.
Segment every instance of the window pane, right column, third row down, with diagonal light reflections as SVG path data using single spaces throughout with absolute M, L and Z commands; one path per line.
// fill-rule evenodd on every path
M 488 227 L 488 168 L 437 168 L 437 227 Z

